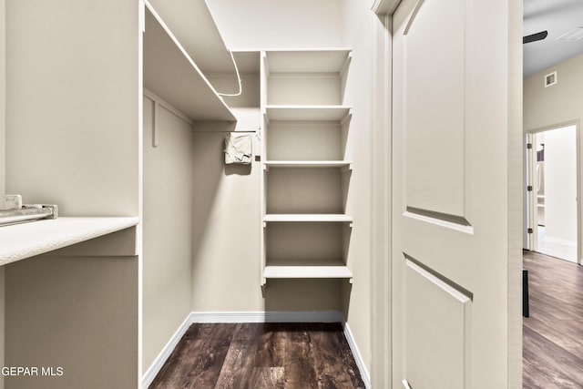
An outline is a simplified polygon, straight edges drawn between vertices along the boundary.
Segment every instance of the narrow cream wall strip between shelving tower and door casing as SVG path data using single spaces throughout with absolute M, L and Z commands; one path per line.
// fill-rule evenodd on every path
M 346 212 L 353 215 L 348 265 L 354 280 L 349 302 L 349 323 L 364 363 L 371 369 L 371 201 L 372 179 L 372 119 L 373 119 L 373 18 L 370 4 L 361 0 L 343 0 L 343 45 L 353 49 L 353 61 L 348 73 L 344 103 L 353 107 L 348 131 L 347 159 L 352 159 Z M 374 291 L 379 292 L 379 291 Z

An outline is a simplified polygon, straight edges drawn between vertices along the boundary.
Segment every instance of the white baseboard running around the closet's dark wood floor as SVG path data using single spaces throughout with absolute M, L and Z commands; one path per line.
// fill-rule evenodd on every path
M 346 323 L 343 313 L 340 311 L 289 311 L 289 312 L 190 312 L 188 317 L 180 324 L 179 329 L 172 335 L 169 342 L 156 357 L 142 377 L 142 389 L 147 389 L 160 369 L 168 360 L 170 354 L 176 348 L 190 324 L 195 322 L 341 322 L 344 336 L 348 341 L 354 360 L 363 378 L 364 386 L 371 387 L 371 378 L 366 370 L 363 356 L 356 346 L 353 333 Z

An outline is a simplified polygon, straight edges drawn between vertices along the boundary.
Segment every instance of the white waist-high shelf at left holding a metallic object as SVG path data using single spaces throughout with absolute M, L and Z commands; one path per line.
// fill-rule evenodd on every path
M 137 217 L 59 217 L 0 227 L 0 266 L 136 226 Z

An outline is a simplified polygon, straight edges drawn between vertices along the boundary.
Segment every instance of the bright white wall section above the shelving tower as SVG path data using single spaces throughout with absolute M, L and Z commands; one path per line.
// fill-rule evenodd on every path
M 337 0 L 209 0 L 231 50 L 342 46 Z

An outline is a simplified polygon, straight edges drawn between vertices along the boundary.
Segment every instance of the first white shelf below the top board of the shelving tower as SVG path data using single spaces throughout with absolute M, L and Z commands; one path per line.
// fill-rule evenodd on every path
M 340 121 L 350 116 L 348 106 L 269 105 L 265 107 L 268 120 Z

